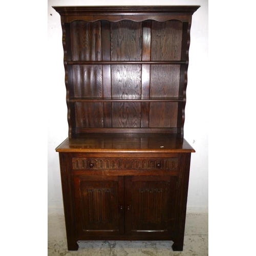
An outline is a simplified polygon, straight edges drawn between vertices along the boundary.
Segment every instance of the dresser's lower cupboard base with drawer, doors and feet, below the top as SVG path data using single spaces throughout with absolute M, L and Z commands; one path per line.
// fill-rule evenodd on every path
M 190 153 L 138 155 L 59 153 L 69 250 L 79 240 L 169 240 L 183 250 Z

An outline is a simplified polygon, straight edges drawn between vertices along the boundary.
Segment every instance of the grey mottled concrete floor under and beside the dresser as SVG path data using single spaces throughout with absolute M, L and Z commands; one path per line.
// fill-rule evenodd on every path
M 208 214 L 188 213 L 183 251 L 173 251 L 172 241 L 79 241 L 78 251 L 68 251 L 62 214 L 48 215 L 48 256 L 207 256 Z

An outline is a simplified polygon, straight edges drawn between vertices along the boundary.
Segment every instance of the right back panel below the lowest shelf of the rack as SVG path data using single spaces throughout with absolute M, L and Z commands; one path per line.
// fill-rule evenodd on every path
M 178 102 L 151 102 L 150 127 L 177 127 Z

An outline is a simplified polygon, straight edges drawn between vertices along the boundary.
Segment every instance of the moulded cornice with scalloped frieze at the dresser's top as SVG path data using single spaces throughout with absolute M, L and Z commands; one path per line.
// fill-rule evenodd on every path
M 62 22 L 75 20 L 97 22 L 100 19 L 118 22 L 133 20 L 142 22 L 154 19 L 158 22 L 180 20 L 190 22 L 191 16 L 200 6 L 54 6 L 61 15 Z

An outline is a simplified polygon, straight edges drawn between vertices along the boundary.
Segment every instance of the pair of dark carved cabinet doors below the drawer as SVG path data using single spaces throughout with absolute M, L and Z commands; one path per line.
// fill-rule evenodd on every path
M 176 176 L 74 175 L 80 235 L 172 235 Z

